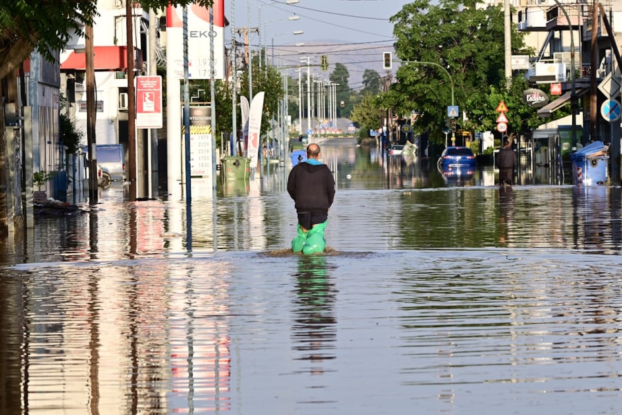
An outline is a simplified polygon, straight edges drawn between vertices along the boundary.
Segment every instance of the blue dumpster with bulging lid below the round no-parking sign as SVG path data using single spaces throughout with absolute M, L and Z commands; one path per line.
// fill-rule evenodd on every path
M 608 178 L 609 156 L 602 141 L 594 141 L 570 155 L 572 161 L 572 184 L 604 185 Z

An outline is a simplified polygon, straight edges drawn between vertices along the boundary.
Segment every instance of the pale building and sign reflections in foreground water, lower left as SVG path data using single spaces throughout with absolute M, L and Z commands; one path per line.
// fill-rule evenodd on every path
M 218 277 L 227 266 L 176 264 L 73 266 L 26 281 L 21 308 L 3 307 L 15 311 L 4 325 L 15 336 L 0 347 L 2 390 L 12 391 L 0 413 L 230 409 L 229 323 L 218 317 L 229 313 Z

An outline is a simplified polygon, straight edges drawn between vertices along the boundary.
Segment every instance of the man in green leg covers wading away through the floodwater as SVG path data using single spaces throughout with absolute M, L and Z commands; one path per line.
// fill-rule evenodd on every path
M 307 160 L 295 165 L 288 178 L 288 193 L 298 214 L 298 236 L 292 241 L 292 251 L 305 255 L 326 248 L 324 228 L 334 199 L 332 172 L 319 162 L 319 155 L 319 145 L 308 145 Z

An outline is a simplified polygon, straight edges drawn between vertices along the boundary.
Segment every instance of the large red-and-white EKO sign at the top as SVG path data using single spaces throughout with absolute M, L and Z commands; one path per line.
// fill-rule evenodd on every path
M 209 48 L 209 8 L 191 3 L 188 7 L 188 77 L 211 79 Z M 214 0 L 214 79 L 225 77 L 225 0 Z M 175 67 L 178 79 L 184 78 L 184 37 L 182 6 L 167 8 L 167 65 Z

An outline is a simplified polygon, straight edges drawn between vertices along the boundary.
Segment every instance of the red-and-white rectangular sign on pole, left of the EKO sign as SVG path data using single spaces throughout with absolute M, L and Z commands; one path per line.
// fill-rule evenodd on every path
M 162 128 L 162 77 L 136 77 L 136 128 Z

